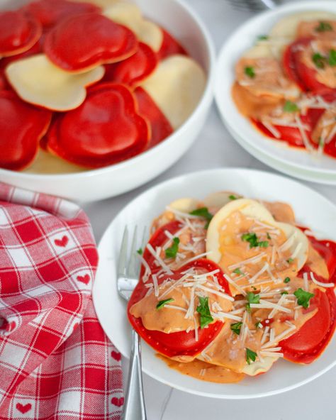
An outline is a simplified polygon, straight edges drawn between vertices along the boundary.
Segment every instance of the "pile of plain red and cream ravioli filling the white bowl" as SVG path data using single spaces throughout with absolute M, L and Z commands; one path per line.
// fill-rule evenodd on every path
M 177 130 L 206 84 L 181 44 L 127 1 L 33 1 L 0 13 L 0 28 L 0 167 L 8 170 L 127 160 Z

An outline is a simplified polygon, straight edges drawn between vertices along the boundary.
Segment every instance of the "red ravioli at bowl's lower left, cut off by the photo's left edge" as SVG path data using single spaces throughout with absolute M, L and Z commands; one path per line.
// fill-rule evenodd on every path
M 0 91 L 0 167 L 21 170 L 33 162 L 52 113 L 21 101 L 11 91 Z

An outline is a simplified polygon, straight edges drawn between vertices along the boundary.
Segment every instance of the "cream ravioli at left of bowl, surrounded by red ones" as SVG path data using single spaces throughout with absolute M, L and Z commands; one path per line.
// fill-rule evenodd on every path
M 24 101 L 53 111 L 77 108 L 86 97 L 86 86 L 100 80 L 103 74 L 102 66 L 79 74 L 65 72 L 44 54 L 12 62 L 6 67 L 11 86 Z

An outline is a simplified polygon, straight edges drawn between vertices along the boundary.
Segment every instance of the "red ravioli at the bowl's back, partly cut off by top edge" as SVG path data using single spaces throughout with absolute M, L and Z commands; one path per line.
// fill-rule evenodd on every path
M 56 23 L 70 16 L 81 13 L 100 12 L 101 8 L 94 4 L 67 0 L 39 0 L 33 1 L 23 8 L 33 15 L 43 27 L 50 28 Z

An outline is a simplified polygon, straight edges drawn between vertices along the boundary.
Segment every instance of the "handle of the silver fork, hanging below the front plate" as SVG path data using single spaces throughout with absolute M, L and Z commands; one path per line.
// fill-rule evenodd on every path
M 130 370 L 121 420 L 147 420 L 142 387 L 141 341 L 133 330 Z

